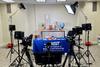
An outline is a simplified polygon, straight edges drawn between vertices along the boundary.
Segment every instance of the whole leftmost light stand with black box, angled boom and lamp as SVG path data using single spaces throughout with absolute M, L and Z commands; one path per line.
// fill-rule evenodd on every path
M 19 8 L 20 9 L 26 9 L 25 6 L 22 3 L 19 4 Z M 19 8 L 9 16 L 9 22 L 11 24 L 11 25 L 9 25 L 9 30 L 10 30 L 10 38 L 11 38 L 12 48 L 8 52 L 7 57 L 10 54 L 10 62 L 11 62 L 11 57 L 12 57 L 13 52 L 15 51 L 18 54 L 18 52 L 13 48 L 13 45 L 14 45 L 13 44 L 13 31 L 15 30 L 15 25 L 12 25 L 12 17 L 20 10 Z

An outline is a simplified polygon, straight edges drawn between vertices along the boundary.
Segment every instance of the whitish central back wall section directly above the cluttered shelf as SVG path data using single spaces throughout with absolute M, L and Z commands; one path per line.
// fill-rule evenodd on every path
M 49 16 L 51 23 L 64 22 L 66 31 L 77 22 L 77 15 L 68 14 L 64 5 L 36 5 L 36 23 L 46 22 L 46 15 Z

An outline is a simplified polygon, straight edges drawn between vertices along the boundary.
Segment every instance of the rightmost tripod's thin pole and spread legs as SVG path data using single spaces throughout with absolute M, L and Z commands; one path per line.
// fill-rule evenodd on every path
M 87 33 L 87 42 L 89 42 L 89 30 L 87 30 L 86 33 Z M 91 54 L 91 52 L 89 50 L 89 46 L 87 46 L 87 50 L 85 51 L 85 53 L 83 54 L 83 56 L 84 55 L 87 56 L 87 58 L 88 58 L 88 62 L 87 63 L 89 64 L 89 67 L 90 67 L 90 64 L 92 64 L 92 63 L 90 63 L 90 56 L 92 57 L 92 59 L 94 61 L 95 61 L 95 59 L 94 59 L 93 55 Z

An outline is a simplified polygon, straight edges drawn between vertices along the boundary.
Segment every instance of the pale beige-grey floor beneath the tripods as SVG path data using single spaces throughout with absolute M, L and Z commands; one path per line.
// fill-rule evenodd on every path
M 16 49 L 17 49 L 17 47 L 16 47 Z M 85 49 L 82 50 L 82 51 L 84 53 Z M 93 63 L 90 67 L 100 67 L 100 45 L 91 46 L 90 47 L 90 51 L 91 51 L 92 55 L 95 58 L 95 62 L 92 60 L 92 58 L 90 58 L 91 59 L 90 61 Z M 17 54 L 14 53 L 12 55 L 11 62 L 10 62 L 10 55 L 7 58 L 8 52 L 9 52 L 9 49 L 0 48 L 0 67 L 9 67 L 10 63 L 17 57 Z M 30 53 L 30 54 L 32 54 L 32 53 Z M 32 57 L 32 60 L 33 60 L 34 67 L 40 67 L 39 65 L 35 64 L 35 60 L 34 60 L 34 55 L 33 54 L 31 55 L 31 57 Z M 84 56 L 84 57 L 87 60 L 87 57 L 86 56 Z M 26 57 L 24 56 L 24 58 L 26 58 Z M 62 62 L 63 62 L 64 58 L 65 58 L 65 55 L 63 55 L 63 57 L 62 57 Z M 23 61 L 23 62 L 25 62 L 25 61 Z M 82 60 L 82 63 L 83 63 L 83 66 L 81 66 L 81 67 L 89 67 L 88 65 L 85 64 L 84 60 Z M 68 67 L 67 64 L 68 63 L 66 63 L 65 67 Z M 73 66 L 77 67 L 74 64 L 73 64 Z M 12 67 L 15 67 L 15 66 L 12 66 Z M 26 63 L 24 66 L 21 66 L 21 67 L 29 67 L 29 66 Z

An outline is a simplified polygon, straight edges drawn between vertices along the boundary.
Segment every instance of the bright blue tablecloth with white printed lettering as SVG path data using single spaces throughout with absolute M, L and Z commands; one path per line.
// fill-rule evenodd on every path
M 50 51 L 51 52 L 61 52 L 66 53 L 69 50 L 69 41 L 68 39 L 35 39 L 33 40 L 33 52 L 34 53 L 44 53 L 47 51 L 46 44 L 50 42 Z

